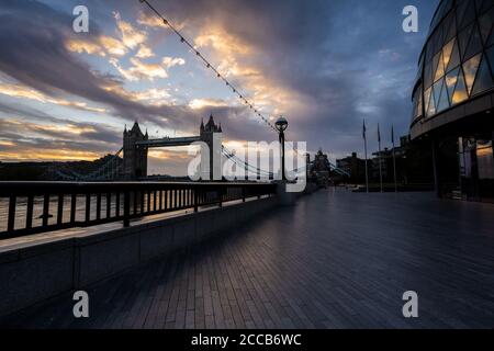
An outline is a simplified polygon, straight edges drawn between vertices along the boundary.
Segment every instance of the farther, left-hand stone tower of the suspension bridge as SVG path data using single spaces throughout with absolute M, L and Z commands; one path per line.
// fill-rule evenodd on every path
M 136 145 L 148 140 L 147 131 L 143 134 L 137 122 L 132 129 L 123 133 L 123 173 L 124 179 L 135 180 L 147 176 L 147 147 Z

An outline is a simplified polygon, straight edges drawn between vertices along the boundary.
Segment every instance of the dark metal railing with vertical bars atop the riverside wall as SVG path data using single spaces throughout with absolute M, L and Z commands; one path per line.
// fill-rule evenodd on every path
M 274 193 L 269 183 L 0 182 L 0 239 L 120 220 L 127 227 L 133 218 Z

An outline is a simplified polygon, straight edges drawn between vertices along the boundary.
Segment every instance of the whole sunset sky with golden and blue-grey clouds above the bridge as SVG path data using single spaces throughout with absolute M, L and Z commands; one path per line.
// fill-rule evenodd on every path
M 362 155 L 380 124 L 408 132 L 417 60 L 438 0 L 149 0 L 287 138 L 330 159 Z M 76 5 L 89 32 L 76 33 Z M 418 33 L 405 33 L 405 5 Z M 138 0 L 0 1 L 0 161 L 92 160 L 149 137 L 198 135 L 210 114 L 229 148 L 277 139 Z M 153 149 L 148 173 L 182 176 L 187 148 Z

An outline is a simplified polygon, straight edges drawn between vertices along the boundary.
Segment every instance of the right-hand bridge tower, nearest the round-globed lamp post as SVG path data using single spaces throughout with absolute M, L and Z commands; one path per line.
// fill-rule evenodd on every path
M 209 179 L 221 180 L 222 179 L 222 125 L 215 124 L 213 115 L 210 115 L 210 120 L 204 125 L 201 122 L 200 138 L 204 141 L 209 149 Z M 206 178 L 205 176 L 204 178 Z

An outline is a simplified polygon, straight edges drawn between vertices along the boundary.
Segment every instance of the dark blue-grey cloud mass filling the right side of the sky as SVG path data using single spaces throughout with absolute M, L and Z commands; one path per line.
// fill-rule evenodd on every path
M 285 111 L 290 135 L 343 154 L 360 149 L 362 118 L 407 133 L 416 61 L 438 1 L 154 2 L 177 22 L 221 23 L 261 53 L 254 60 L 273 84 L 296 91 L 305 110 Z M 402 10 L 419 11 L 418 34 L 402 31 Z M 366 110 L 362 106 L 370 105 Z M 246 133 L 255 135 L 255 133 Z M 353 136 L 353 143 L 348 141 Z

